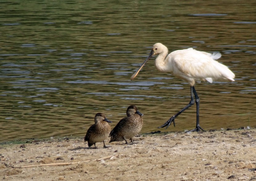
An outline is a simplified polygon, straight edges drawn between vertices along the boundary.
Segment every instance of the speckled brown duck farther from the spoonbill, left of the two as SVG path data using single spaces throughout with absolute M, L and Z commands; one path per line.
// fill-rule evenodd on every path
M 96 149 L 97 142 L 103 141 L 103 148 L 107 148 L 105 146 L 104 140 L 107 139 L 110 133 L 110 125 L 107 123 L 112 123 L 112 121 L 108 120 L 103 113 L 97 113 L 94 117 L 93 124 L 86 132 L 84 142 L 88 142 L 88 146 L 91 147 L 94 144 Z

